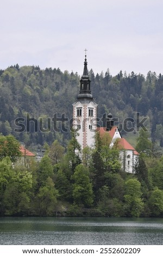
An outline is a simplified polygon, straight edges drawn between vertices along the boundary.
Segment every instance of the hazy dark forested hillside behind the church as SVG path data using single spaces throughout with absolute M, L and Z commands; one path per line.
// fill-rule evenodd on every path
M 82 75 L 82 74 L 81 74 Z M 89 71 L 91 92 L 98 104 L 98 117 L 111 111 L 113 117 L 118 118 L 122 124 L 125 118 L 133 118 L 139 112 L 141 118 L 148 117 L 146 123 L 149 135 L 157 147 L 163 146 L 163 75 L 148 74 L 122 74 L 120 71 L 112 76 L 107 70 L 101 74 Z M 0 131 L 2 135 L 14 135 L 18 141 L 33 148 L 47 142 L 49 145 L 55 139 L 66 147 L 70 132 L 14 132 L 17 118 L 42 118 L 43 125 L 47 127 L 47 118 L 72 118 L 72 103 L 76 101 L 79 93 L 80 76 L 74 72 L 62 72 L 59 68 L 46 68 L 39 66 L 10 66 L 0 70 Z M 135 124 L 134 124 L 135 125 Z M 123 135 L 125 131 L 122 130 Z

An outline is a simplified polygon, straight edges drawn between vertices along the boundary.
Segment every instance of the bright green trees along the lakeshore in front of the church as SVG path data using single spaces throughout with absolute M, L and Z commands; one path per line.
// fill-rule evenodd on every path
M 95 149 L 83 151 L 77 136 L 72 132 L 66 149 L 57 140 L 46 143 L 41 161 L 27 166 L 18 162 L 15 137 L 0 137 L 1 216 L 163 216 L 163 158 L 154 155 L 147 132 L 137 139 L 134 174 L 123 172 L 108 135 L 96 133 Z

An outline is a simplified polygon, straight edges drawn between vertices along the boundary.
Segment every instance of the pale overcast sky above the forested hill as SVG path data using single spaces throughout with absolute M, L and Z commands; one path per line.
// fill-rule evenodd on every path
M 0 69 L 18 63 L 83 73 L 163 74 L 162 0 L 4 0 Z

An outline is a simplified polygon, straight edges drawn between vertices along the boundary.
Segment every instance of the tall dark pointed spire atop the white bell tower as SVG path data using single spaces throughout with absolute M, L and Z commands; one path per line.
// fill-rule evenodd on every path
M 78 99 L 93 99 L 93 96 L 91 94 L 91 80 L 89 78 L 88 72 L 87 72 L 87 59 L 86 59 L 86 49 L 85 49 L 85 61 L 84 61 L 84 71 L 83 76 L 80 80 L 80 92 L 78 94 Z

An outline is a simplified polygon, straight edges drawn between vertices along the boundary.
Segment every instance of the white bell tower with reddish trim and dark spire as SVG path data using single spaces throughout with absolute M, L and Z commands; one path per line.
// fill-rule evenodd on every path
M 91 80 L 87 72 L 87 59 L 85 55 L 83 76 L 80 80 L 80 92 L 73 105 L 73 129 L 78 131 L 77 137 L 81 148 L 93 147 L 95 144 L 95 131 L 97 129 L 97 104 L 91 94 Z

